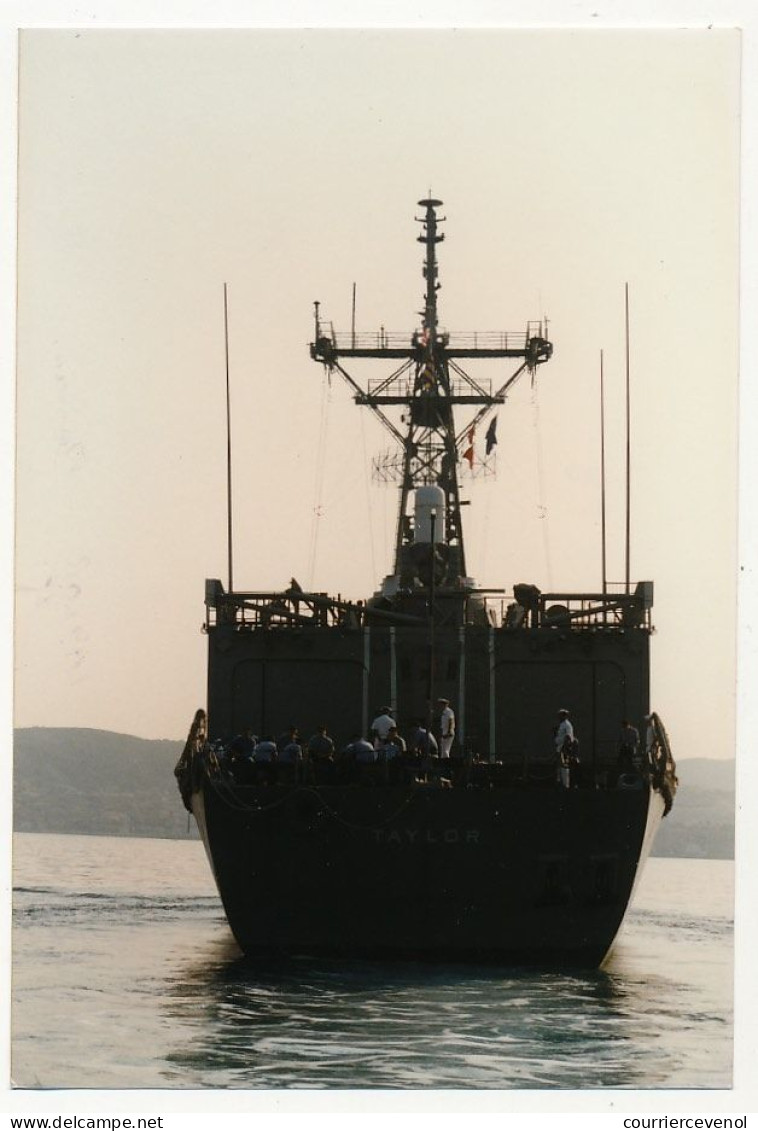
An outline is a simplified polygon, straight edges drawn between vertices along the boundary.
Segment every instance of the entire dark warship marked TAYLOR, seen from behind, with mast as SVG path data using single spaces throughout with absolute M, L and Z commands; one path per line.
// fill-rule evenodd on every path
M 677 787 L 649 703 L 653 584 L 468 576 L 462 473 L 492 458 L 494 411 L 553 347 L 544 322 L 440 327 L 441 201 L 419 205 L 421 325 L 356 333 L 353 314 L 336 333 L 316 303 L 310 344 L 391 435 L 374 466 L 399 484 L 393 571 L 363 601 L 294 579 L 240 592 L 230 551 L 229 586 L 206 581 L 207 708 L 175 775 L 248 958 L 596 967 Z M 390 371 L 362 385 L 354 359 Z M 505 380 L 470 375 L 480 360 Z

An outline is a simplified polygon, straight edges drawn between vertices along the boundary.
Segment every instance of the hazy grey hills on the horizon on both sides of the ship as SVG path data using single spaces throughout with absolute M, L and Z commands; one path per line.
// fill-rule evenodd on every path
M 29 727 L 15 734 L 14 815 L 21 832 L 186 837 L 173 776 L 183 740 L 110 731 Z M 729 858 L 734 846 L 734 763 L 679 765 L 680 788 L 656 856 Z M 193 822 L 192 822 L 192 831 Z

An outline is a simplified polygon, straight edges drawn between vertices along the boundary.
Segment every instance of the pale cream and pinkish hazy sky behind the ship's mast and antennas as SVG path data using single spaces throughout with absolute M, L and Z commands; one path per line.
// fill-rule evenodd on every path
M 600 586 L 602 348 L 623 578 L 628 282 L 653 706 L 679 757 L 731 757 L 739 81 L 731 31 L 23 33 L 16 725 L 178 737 L 205 700 L 224 282 L 236 587 L 390 570 L 386 435 L 308 342 L 315 299 L 350 329 L 354 282 L 359 329 L 419 325 L 431 189 L 443 325 L 546 316 L 554 343 L 499 411 L 497 478 L 464 481 L 470 573 Z

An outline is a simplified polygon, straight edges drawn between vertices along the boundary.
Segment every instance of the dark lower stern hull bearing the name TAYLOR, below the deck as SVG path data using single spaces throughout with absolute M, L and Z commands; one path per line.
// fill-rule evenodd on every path
M 192 795 L 249 956 L 600 966 L 663 814 L 641 788 Z

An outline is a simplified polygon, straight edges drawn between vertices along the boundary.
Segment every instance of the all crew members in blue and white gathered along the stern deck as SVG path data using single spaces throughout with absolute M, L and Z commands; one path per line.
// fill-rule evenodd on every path
M 455 748 L 455 713 L 447 699 L 438 700 L 432 722 L 436 724 L 433 728 L 429 726 L 429 720 L 416 719 L 403 737 L 391 709 L 380 707 L 371 723 L 370 737 L 354 734 L 341 749 L 337 749 L 326 725 L 319 726 L 307 741 L 302 741 L 294 725 L 278 739 L 270 734 L 259 739 L 252 727 L 248 727 L 232 741 L 210 744 L 207 750 L 208 768 L 240 785 L 268 785 L 274 782 L 471 784 L 472 767 L 482 760 Z M 627 719 L 621 723 L 615 767 L 620 784 L 631 785 L 639 778 L 643 766 L 649 762 L 655 741 L 651 716 L 646 717 L 646 757 L 643 757 L 638 729 Z M 569 789 L 589 784 L 585 780 L 579 743 L 567 708 L 558 711 L 553 748 L 558 787 Z

